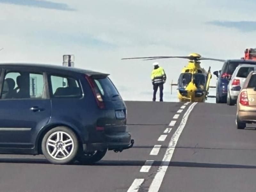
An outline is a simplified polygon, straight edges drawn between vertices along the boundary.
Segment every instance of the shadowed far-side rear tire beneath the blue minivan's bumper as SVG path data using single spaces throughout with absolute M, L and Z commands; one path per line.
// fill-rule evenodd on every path
M 106 155 L 107 150 L 108 148 L 105 148 L 103 150 L 95 151 L 92 154 L 90 153 L 85 154 L 83 152 L 80 152 L 77 155 L 76 160 L 82 164 L 93 164 L 100 161 Z

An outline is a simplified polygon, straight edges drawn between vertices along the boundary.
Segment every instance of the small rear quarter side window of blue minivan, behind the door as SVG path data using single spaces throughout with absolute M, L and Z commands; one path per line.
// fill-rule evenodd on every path
M 51 75 L 50 79 L 53 98 L 82 97 L 82 91 L 76 79 L 59 75 Z

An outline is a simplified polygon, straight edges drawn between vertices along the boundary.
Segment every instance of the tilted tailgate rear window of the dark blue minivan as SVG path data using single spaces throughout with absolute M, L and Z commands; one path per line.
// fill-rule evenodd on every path
M 109 77 L 93 79 L 99 91 L 102 95 L 103 100 L 112 100 L 115 97 L 120 97 L 116 87 L 111 82 Z

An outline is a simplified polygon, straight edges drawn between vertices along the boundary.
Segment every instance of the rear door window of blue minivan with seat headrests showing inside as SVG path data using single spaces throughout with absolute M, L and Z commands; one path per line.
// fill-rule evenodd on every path
M 43 74 L 23 71 L 7 72 L 1 99 L 41 99 L 44 91 Z

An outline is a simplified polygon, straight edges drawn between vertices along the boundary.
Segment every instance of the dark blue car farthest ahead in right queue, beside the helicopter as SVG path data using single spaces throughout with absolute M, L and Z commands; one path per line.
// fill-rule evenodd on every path
M 213 74 L 218 77 L 216 83 L 216 103 L 227 103 L 228 83 L 239 64 L 256 65 L 256 60 L 233 59 L 226 60 L 221 71 L 214 71 Z

